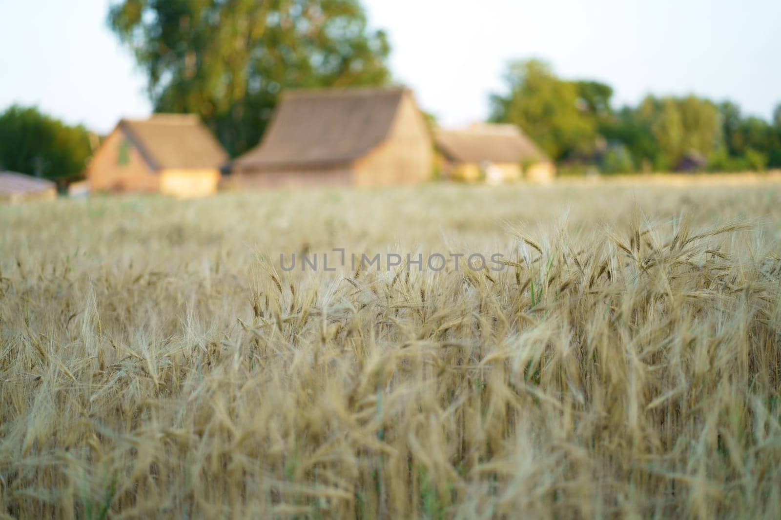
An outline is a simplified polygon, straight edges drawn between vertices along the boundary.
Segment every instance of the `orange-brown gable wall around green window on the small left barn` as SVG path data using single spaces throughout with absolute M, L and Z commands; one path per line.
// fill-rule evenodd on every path
M 120 164 L 120 147 L 127 143 L 127 163 Z M 87 167 L 90 187 L 96 191 L 156 191 L 159 175 L 119 128 L 106 138 Z

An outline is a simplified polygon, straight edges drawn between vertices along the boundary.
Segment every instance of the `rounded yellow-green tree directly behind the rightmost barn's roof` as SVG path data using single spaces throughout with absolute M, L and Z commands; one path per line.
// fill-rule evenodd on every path
M 492 121 L 519 126 L 557 161 L 590 153 L 597 122 L 576 83 L 561 80 L 539 60 L 512 62 L 505 82 L 508 92 L 491 96 Z

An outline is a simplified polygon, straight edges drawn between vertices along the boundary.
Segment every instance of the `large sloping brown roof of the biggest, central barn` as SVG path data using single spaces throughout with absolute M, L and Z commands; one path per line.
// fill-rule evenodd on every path
M 249 167 L 347 164 L 385 140 L 401 87 L 287 90 L 262 142 L 237 159 Z

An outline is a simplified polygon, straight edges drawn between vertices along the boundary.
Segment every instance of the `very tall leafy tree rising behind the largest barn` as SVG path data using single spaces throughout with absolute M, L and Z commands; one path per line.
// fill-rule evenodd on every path
M 390 80 L 387 37 L 358 0 L 122 0 L 109 24 L 155 111 L 201 115 L 234 155 L 259 141 L 280 90 Z

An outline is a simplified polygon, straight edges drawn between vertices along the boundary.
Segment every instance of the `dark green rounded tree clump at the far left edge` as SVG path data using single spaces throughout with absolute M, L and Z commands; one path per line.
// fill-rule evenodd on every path
M 0 170 L 52 179 L 62 188 L 83 175 L 90 155 L 84 126 L 16 104 L 0 114 Z

